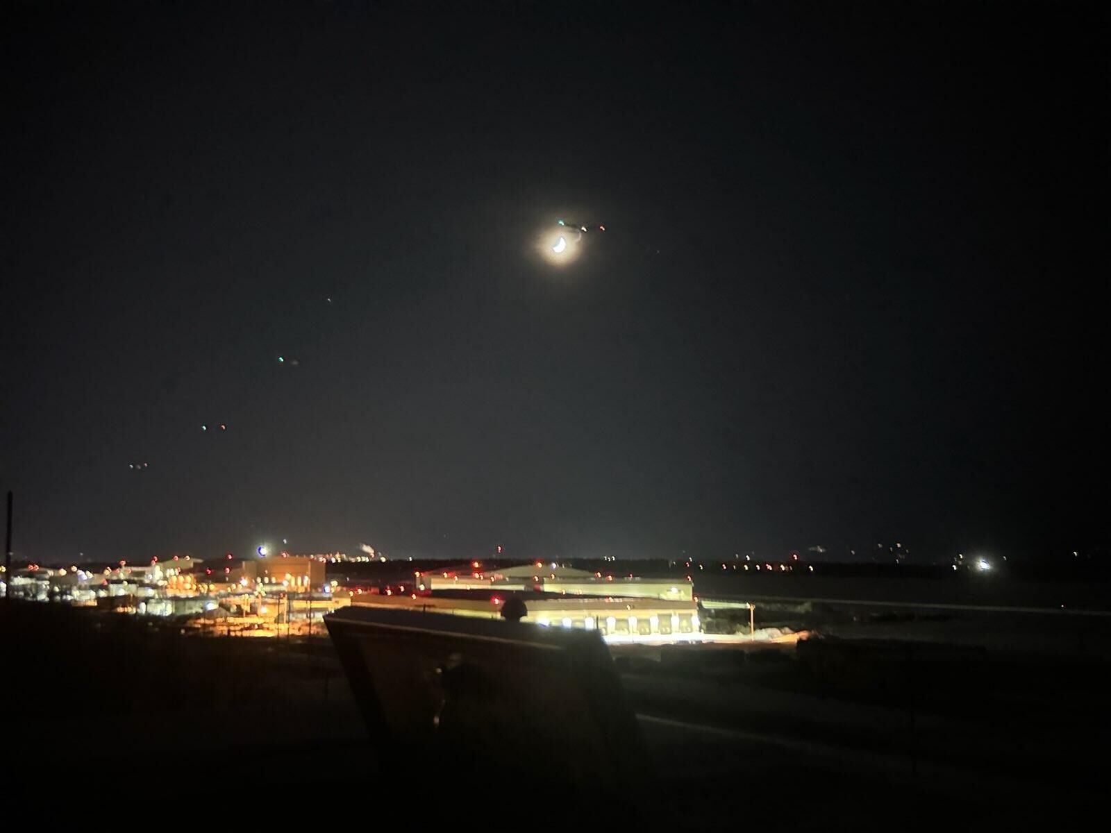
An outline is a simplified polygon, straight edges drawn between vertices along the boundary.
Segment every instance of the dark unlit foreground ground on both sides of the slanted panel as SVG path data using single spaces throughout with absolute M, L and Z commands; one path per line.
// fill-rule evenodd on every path
M 893 638 L 907 626 L 891 624 Z M 1102 791 L 1107 664 L 908 646 L 879 626 L 862 630 L 868 641 L 842 626 L 842 639 L 799 649 L 619 652 L 654 772 L 621 806 L 645 821 L 760 830 L 1079 826 Z M 399 794 L 407 805 L 420 796 L 426 814 L 456 812 L 460 791 L 499 813 L 514 802 L 614 806 L 544 795 L 542 750 L 452 784 L 396 771 L 327 639 L 206 639 L 48 605 L 0 605 L 0 629 L 3 764 L 19 790 L 172 784 L 201 796 L 288 784 L 360 812 Z

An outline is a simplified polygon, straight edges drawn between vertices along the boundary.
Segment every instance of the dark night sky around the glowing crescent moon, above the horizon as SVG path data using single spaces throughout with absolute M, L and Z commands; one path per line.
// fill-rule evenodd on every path
M 8 7 L 17 558 L 1107 542 L 1095 4 L 447 6 Z

